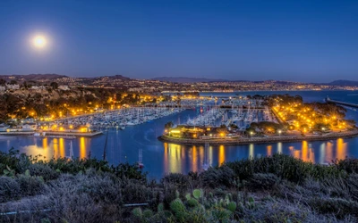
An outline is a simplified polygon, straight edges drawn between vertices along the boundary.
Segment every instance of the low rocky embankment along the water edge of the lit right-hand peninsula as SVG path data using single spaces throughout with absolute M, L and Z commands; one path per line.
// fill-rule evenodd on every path
M 271 144 L 271 143 L 294 143 L 301 141 L 326 141 L 337 138 L 353 138 L 358 136 L 358 129 L 345 132 L 331 132 L 326 135 L 308 136 L 269 136 L 269 137 L 239 137 L 221 139 L 189 139 L 175 138 L 172 136 L 158 136 L 158 140 L 164 143 L 177 145 L 251 145 L 251 144 Z

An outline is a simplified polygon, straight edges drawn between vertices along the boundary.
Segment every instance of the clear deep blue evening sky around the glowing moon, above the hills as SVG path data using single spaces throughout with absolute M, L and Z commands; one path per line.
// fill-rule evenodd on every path
M 1 0 L 0 74 L 29 73 L 358 80 L 358 1 Z

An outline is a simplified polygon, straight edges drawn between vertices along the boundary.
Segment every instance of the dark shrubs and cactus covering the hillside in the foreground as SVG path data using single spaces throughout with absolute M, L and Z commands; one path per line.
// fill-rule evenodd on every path
M 357 222 L 358 160 L 288 155 L 149 182 L 128 163 L 0 152 L 0 222 Z

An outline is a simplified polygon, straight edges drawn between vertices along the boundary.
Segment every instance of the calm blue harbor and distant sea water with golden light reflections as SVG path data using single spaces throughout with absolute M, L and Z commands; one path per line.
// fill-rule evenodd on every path
M 331 99 L 349 103 L 358 103 L 358 91 L 289 91 L 289 92 L 240 92 L 240 93 L 203 93 L 202 95 L 272 95 L 272 94 L 302 95 L 305 102 L 323 102 L 329 95 Z M 183 146 L 166 144 L 158 141 L 166 122 L 183 123 L 189 117 L 194 117 L 197 111 L 187 110 L 167 116 L 160 120 L 131 126 L 121 130 L 111 130 L 107 140 L 107 161 L 111 164 L 128 161 L 133 163 L 139 159 L 142 149 L 145 170 L 149 178 L 161 178 L 169 172 L 187 173 L 202 170 L 204 160 L 203 146 Z M 347 119 L 358 122 L 358 111 L 348 110 Z M 41 154 L 47 158 L 70 155 L 72 146 L 74 156 L 102 158 L 106 136 L 93 138 L 80 137 L 76 139 L 52 139 L 33 136 L 0 136 L 0 150 L 8 151 L 11 147 L 21 153 L 32 155 Z M 303 161 L 327 163 L 335 159 L 348 157 L 358 158 L 358 138 L 337 139 L 319 142 L 277 143 L 266 145 L 210 146 L 208 158 L 210 165 L 224 161 L 235 161 L 257 155 L 272 155 L 286 153 Z

